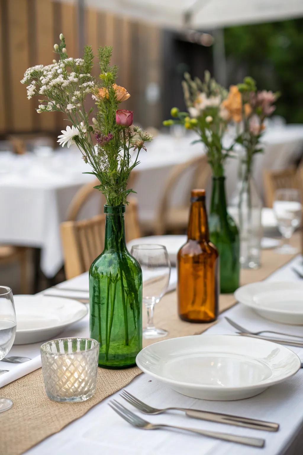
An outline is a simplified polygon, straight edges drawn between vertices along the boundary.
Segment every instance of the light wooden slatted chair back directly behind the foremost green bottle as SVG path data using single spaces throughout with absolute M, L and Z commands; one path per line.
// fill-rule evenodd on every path
M 137 201 L 130 199 L 125 213 L 127 242 L 140 236 L 138 226 Z M 91 263 L 104 249 L 104 235 L 105 215 L 97 215 L 89 220 L 66 221 L 61 224 L 67 279 L 89 270 Z

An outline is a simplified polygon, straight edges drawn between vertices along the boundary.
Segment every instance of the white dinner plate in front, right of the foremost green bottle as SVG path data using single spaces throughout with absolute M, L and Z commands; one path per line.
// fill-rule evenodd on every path
M 180 394 L 224 401 L 258 395 L 301 367 L 285 346 L 240 335 L 160 341 L 139 352 L 136 363 Z

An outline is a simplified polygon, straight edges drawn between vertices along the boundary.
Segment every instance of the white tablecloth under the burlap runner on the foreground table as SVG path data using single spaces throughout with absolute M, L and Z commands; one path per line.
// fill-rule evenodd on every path
M 268 280 L 297 281 L 298 277 L 292 268 L 302 270 L 302 257 L 298 256 L 291 263 L 273 273 Z M 69 282 L 62 283 L 64 287 L 87 287 L 87 278 L 81 275 Z M 86 284 L 85 284 L 86 283 Z M 161 304 L 161 303 L 159 303 Z M 155 310 L 157 311 L 157 309 Z M 232 334 L 233 328 L 225 321 L 224 316 L 229 316 L 244 327 L 253 330 L 264 328 L 293 332 L 303 335 L 303 327 L 290 327 L 274 324 L 261 319 L 257 314 L 242 305 L 235 305 L 227 312 L 220 315 L 218 324 L 211 327 L 207 334 Z M 87 318 L 71 326 L 63 336 L 87 335 Z M 197 335 L 197 336 L 202 336 Z M 29 351 L 30 349 L 30 351 Z M 303 349 L 290 347 L 303 359 Z M 14 346 L 11 355 L 29 355 L 38 353 L 39 344 L 27 346 Z M 0 368 L 10 364 L 0 362 Z M 17 366 L 15 366 L 16 368 Z M 254 449 L 228 442 L 207 439 L 202 436 L 185 435 L 171 431 L 143 431 L 135 429 L 122 420 L 107 405 L 110 399 L 124 400 L 119 397 L 119 392 L 96 405 L 81 419 L 68 425 L 59 433 L 50 436 L 39 445 L 26 452 L 27 455 L 83 455 L 83 453 L 96 454 L 131 454 L 131 455 L 299 455 L 302 441 L 298 440 L 297 449 L 291 451 L 289 447 L 302 436 L 303 430 L 303 369 L 282 384 L 277 384 L 260 395 L 239 401 L 207 401 L 185 397 L 174 392 L 159 381 L 147 374 L 140 374 L 126 387 L 130 393 L 154 406 L 165 407 L 169 405 L 192 407 L 229 414 L 243 415 L 256 419 L 278 422 L 280 429 L 277 433 L 237 428 L 230 425 L 214 424 L 184 417 L 177 413 L 148 416 L 152 422 L 163 422 L 172 425 L 192 426 L 195 428 L 225 431 L 238 435 L 262 437 L 266 440 L 265 448 Z M 127 404 L 126 404 L 127 405 Z M 127 405 L 128 406 L 128 405 Z

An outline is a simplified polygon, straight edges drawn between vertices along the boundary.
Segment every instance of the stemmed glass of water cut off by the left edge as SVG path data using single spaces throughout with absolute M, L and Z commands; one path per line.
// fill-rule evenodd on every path
M 0 286 L 0 360 L 10 352 L 15 341 L 16 313 L 14 298 L 10 288 Z M 5 371 L 0 370 L 0 374 Z M 0 412 L 4 412 L 13 405 L 9 398 L 0 399 Z

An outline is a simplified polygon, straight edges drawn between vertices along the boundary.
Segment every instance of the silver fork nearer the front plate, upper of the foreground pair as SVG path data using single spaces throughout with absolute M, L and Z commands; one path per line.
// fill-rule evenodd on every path
M 209 420 L 210 422 L 217 422 L 220 424 L 229 424 L 235 426 L 241 426 L 245 428 L 253 428 L 254 430 L 265 430 L 265 431 L 278 431 L 279 424 L 273 422 L 265 422 L 263 420 L 248 419 L 247 417 L 239 417 L 238 415 L 229 415 L 221 414 L 211 411 L 201 411 L 187 408 L 165 408 L 158 409 L 149 406 L 148 404 L 143 403 L 134 395 L 130 394 L 127 390 L 123 390 L 120 394 L 129 404 L 137 408 L 139 411 L 144 412 L 144 414 L 162 414 L 170 410 L 184 411 L 185 414 L 189 417 L 193 417 L 201 420 Z

